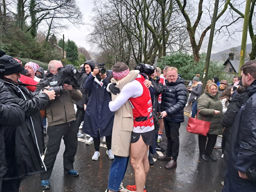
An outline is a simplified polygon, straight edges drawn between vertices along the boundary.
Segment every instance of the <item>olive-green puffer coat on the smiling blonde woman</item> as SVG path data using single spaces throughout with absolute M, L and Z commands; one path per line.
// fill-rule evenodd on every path
M 214 110 L 220 111 L 220 113 L 214 114 Z M 197 99 L 197 111 L 199 111 L 198 119 L 203 120 L 203 116 L 205 116 L 205 121 L 211 122 L 209 134 L 222 134 L 222 104 L 217 94 L 214 96 L 205 91 L 205 93 Z

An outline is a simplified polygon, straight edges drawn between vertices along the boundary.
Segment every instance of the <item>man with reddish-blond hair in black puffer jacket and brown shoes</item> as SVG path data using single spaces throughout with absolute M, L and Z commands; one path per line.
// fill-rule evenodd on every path
M 184 122 L 183 109 L 187 101 L 187 89 L 184 80 L 178 75 L 175 67 L 166 70 L 166 80 L 162 91 L 162 118 L 164 118 L 165 134 L 167 137 L 166 155 L 158 157 L 159 160 L 170 161 L 165 169 L 177 166 L 179 154 L 179 127 Z

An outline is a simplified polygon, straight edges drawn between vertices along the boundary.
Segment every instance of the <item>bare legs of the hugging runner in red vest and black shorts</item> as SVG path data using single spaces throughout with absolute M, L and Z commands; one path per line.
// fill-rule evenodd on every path
M 149 170 L 147 151 L 148 145 L 144 143 L 141 136 L 136 143 L 131 143 L 131 166 L 134 170 L 137 192 L 143 192 L 146 182 L 146 175 Z M 143 163 L 145 163 L 145 165 Z

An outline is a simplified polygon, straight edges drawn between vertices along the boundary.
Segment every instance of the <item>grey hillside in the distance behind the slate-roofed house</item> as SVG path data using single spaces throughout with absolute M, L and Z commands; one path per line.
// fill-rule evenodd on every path
M 228 59 L 229 58 L 229 53 L 231 52 L 231 50 L 230 50 L 231 48 L 233 48 L 233 47 L 230 47 L 229 49 L 226 49 L 224 51 L 219 51 L 218 53 L 211 54 L 211 60 L 216 60 L 216 61 L 222 62 L 223 61 L 222 56 L 225 57 L 225 60 Z M 246 49 L 247 49 L 246 50 L 247 54 L 251 53 L 251 43 L 247 45 Z M 234 53 L 237 55 L 237 57 L 239 57 L 240 50 L 241 50 L 241 45 L 235 47 L 235 50 L 236 51 L 234 51 Z M 237 59 L 239 59 L 239 58 L 237 58 Z

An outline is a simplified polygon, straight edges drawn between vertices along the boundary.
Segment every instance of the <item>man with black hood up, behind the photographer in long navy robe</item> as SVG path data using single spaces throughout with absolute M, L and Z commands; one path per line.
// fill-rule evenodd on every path
M 79 101 L 74 101 L 74 104 L 77 105 L 77 112 L 75 113 L 75 117 L 77 118 L 77 120 L 75 122 L 75 126 L 77 127 L 77 129 L 80 127 L 81 122 L 83 121 L 83 119 L 85 117 L 85 109 L 86 109 L 87 102 L 89 100 L 89 93 L 83 87 L 83 83 L 85 83 L 85 80 L 87 79 L 87 77 L 90 75 L 91 71 L 93 71 L 94 68 L 95 68 L 95 63 L 91 60 L 86 61 L 81 66 L 81 71 L 80 71 L 81 77 L 79 79 L 79 83 L 80 83 L 79 90 L 82 92 L 83 98 Z M 83 137 L 83 134 L 77 133 L 77 137 Z

